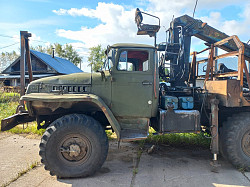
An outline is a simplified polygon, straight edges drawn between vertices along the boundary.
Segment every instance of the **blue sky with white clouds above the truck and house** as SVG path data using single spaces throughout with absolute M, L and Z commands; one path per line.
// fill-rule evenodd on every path
M 20 31 L 32 34 L 31 46 L 71 44 L 87 66 L 89 48 L 114 43 L 154 44 L 153 38 L 137 36 L 135 9 L 160 17 L 157 43 L 165 41 L 165 30 L 173 17 L 192 16 L 196 0 L 0 0 L 0 52 L 20 50 Z M 198 0 L 195 18 L 228 35 L 250 39 L 249 0 Z M 156 24 L 152 19 L 144 22 Z M 204 42 L 192 39 L 191 50 Z

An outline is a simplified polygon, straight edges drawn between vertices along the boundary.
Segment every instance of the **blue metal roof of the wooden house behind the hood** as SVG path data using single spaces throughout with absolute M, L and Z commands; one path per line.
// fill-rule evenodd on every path
M 75 66 L 72 62 L 69 60 L 59 58 L 59 57 L 52 57 L 48 54 L 41 53 L 38 51 L 30 50 L 30 52 L 36 56 L 37 58 L 41 59 L 45 64 L 52 67 L 54 70 L 56 70 L 58 73 L 61 74 L 71 74 L 71 73 L 80 73 L 83 72 L 80 70 L 77 66 Z

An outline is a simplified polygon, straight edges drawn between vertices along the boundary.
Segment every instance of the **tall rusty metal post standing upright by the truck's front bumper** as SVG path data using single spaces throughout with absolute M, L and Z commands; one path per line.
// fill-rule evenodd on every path
M 21 58 L 20 58 L 21 93 L 20 93 L 20 96 L 23 96 L 25 94 L 25 61 L 26 60 L 29 63 L 28 67 L 31 67 L 29 47 L 28 49 L 26 48 L 28 45 L 27 43 L 28 37 L 31 37 L 31 33 L 28 33 L 28 31 L 20 31 L 20 38 L 21 38 Z M 30 79 L 32 80 L 32 76 L 30 77 Z M 20 104 L 23 104 L 23 103 L 20 103 Z

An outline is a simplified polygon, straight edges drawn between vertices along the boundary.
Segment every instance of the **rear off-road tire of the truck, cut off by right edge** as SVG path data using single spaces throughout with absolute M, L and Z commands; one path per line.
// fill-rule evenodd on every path
M 250 113 L 233 115 L 223 124 L 226 158 L 237 168 L 250 171 Z

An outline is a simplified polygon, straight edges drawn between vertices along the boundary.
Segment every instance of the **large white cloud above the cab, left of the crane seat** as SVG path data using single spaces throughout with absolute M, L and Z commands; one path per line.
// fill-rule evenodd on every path
M 60 9 L 53 11 L 59 15 L 86 16 L 101 20 L 101 24 L 89 28 L 82 26 L 81 30 L 72 31 L 58 29 L 57 35 L 75 41 L 81 41 L 85 48 L 98 44 L 103 47 L 117 42 L 139 42 L 142 37 L 136 36 L 137 27 L 134 23 L 135 8 L 125 10 L 122 5 L 113 3 L 98 3 L 96 9 Z M 153 43 L 149 37 L 144 37 L 144 43 Z

